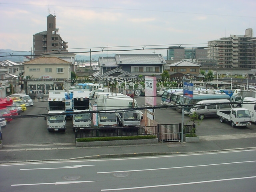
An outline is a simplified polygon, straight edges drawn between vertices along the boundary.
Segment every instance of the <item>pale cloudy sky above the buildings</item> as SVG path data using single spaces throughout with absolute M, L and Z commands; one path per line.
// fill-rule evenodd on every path
M 168 46 L 256 30 L 255 9 L 255 0 L 0 0 L 0 49 L 30 51 L 52 14 L 69 52 L 166 56 Z

